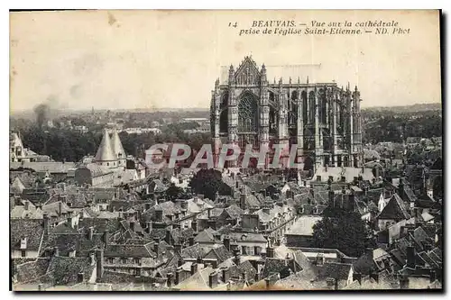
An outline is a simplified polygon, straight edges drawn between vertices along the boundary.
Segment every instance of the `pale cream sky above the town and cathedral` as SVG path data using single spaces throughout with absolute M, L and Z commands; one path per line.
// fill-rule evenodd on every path
M 258 20 L 394 20 L 410 33 L 238 35 Z M 11 111 L 208 108 L 222 66 L 247 55 L 270 81 L 295 66 L 301 82 L 358 86 L 363 107 L 441 102 L 437 11 L 29 12 L 10 25 Z

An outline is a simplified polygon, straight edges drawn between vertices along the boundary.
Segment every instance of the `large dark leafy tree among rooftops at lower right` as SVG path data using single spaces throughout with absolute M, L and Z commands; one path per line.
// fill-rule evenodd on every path
M 313 247 L 337 249 L 358 258 L 374 246 L 364 221 L 354 212 L 327 207 L 323 219 L 313 226 Z

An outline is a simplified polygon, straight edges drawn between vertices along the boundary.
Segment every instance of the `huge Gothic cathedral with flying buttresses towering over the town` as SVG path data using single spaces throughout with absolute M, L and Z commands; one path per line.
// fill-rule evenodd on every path
M 223 82 L 216 79 L 210 105 L 216 158 L 223 144 L 242 150 L 247 144 L 254 150 L 281 144 L 284 166 L 292 146 L 304 170 L 361 167 L 362 100 L 357 86 L 351 90 L 348 84 L 344 89 L 335 82 L 309 82 L 308 77 L 304 82 L 290 77 L 269 83 L 269 76 L 264 64 L 259 68 L 245 57 L 238 68 L 230 66 Z M 272 156 L 273 151 L 265 166 Z

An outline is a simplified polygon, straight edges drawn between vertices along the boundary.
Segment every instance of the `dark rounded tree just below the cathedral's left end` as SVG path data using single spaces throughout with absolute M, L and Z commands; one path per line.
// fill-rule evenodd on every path
M 214 199 L 216 192 L 220 195 L 231 195 L 231 188 L 226 186 L 221 172 L 213 168 L 202 168 L 191 178 L 189 186 L 194 194 L 205 195 Z

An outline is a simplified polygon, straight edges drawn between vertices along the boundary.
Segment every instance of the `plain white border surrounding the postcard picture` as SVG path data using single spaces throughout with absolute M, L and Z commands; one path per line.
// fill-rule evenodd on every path
M 78 1 L 57 1 L 57 0 L 47 0 L 47 1 L 11 1 L 11 0 L 4 0 L 0 3 L 1 6 L 1 10 L 0 10 L 0 23 L 2 24 L 1 26 L 1 36 L 2 36 L 2 40 L 4 42 L 4 44 L 2 45 L 3 47 L 0 48 L 1 51 L 1 66 L 2 66 L 2 70 L 3 72 L 2 74 L 2 85 L 1 85 L 1 91 L 2 91 L 2 95 L 3 95 L 3 99 L 4 101 L 1 102 L 2 107 L 0 108 L 0 112 L 1 114 L 5 114 L 2 115 L 2 117 L 0 117 L 0 121 L 2 122 L 2 124 L 0 125 L 0 132 L 1 132 L 1 138 L 3 141 L 5 141 L 5 144 L 3 147 L 0 147 L 0 157 L 4 158 L 2 160 L 2 169 L 5 170 L 5 173 L 2 173 L 2 180 L 0 180 L 1 183 L 1 190 L 4 191 L 4 197 L 2 200 L 2 207 L 4 209 L 4 214 L 3 214 L 3 218 L 0 218 L 0 221 L 2 223 L 2 228 L 4 229 L 8 229 L 7 231 L 2 230 L 3 233 L 3 247 L 1 247 L 2 249 L 2 253 L 1 253 L 1 257 L 2 257 L 2 261 L 4 261 L 4 268 L 2 268 L 2 272 L 1 272 L 1 276 L 2 276 L 2 294 L 6 294 L 4 296 L 6 296 L 7 298 L 13 297 L 14 294 L 13 293 L 8 293 L 6 292 L 9 289 L 9 268 L 8 266 L 8 260 L 9 260 L 9 208 L 8 208 L 8 197 L 6 195 L 6 191 L 9 190 L 9 186 L 7 186 L 6 182 L 8 182 L 6 180 L 6 177 L 9 177 L 9 174 L 6 175 L 6 167 L 8 166 L 8 160 L 6 160 L 6 158 L 8 157 L 8 153 L 7 153 L 7 144 L 6 141 L 9 138 L 9 134 L 8 134 L 8 129 L 9 129 L 9 9 L 42 9 L 42 8 L 49 8 L 49 9 L 438 9 L 438 8 L 442 8 L 443 12 L 446 14 L 449 13 L 451 10 L 449 9 L 451 1 L 449 0 L 443 0 L 443 1 L 434 1 L 434 0 L 428 0 L 428 1 L 406 1 L 406 2 L 395 2 L 393 0 L 378 0 L 378 1 L 372 1 L 370 2 L 364 2 L 364 1 L 348 1 L 348 0 L 338 0 L 338 1 L 333 1 L 333 0 L 329 0 L 329 1 L 325 1 L 325 0 L 310 0 L 310 1 L 298 1 L 296 4 L 291 3 L 290 1 L 287 0 L 278 0 L 278 1 L 253 1 L 253 2 L 244 2 L 243 0 L 227 0 L 227 1 L 223 1 L 223 2 L 215 2 L 215 1 L 175 1 L 175 0 L 165 0 L 165 1 L 161 1 L 159 3 L 154 3 L 151 1 L 135 1 L 135 0 L 127 0 L 127 1 L 117 1 L 117 0 L 110 0 L 110 1 L 103 1 L 103 2 L 95 2 L 93 0 L 78 0 Z M 448 16 L 449 18 L 449 16 Z M 448 23 L 449 23 L 449 19 L 448 19 Z M 446 40 L 448 41 L 448 46 L 449 47 L 449 31 L 446 32 Z M 446 47 L 446 52 L 448 47 Z M 447 61 L 449 61 L 449 57 L 447 58 Z M 446 66 L 444 67 L 448 67 L 449 63 L 446 63 Z M 6 69 L 8 69 L 8 72 L 6 72 Z M 446 80 L 446 87 L 448 86 L 448 80 Z M 449 110 L 451 110 L 450 106 L 451 105 L 447 105 L 448 107 L 446 108 L 446 113 L 450 113 Z M 448 124 L 449 125 L 449 122 Z M 447 131 L 447 129 L 449 129 L 448 126 L 446 126 L 446 130 L 444 132 L 449 132 Z M 446 137 L 446 141 L 448 141 L 448 137 Z M 448 143 L 446 143 L 447 149 L 450 149 L 450 145 Z M 3 154 L 2 154 L 3 153 Z M 446 170 L 447 170 L 447 166 L 446 166 Z M 446 182 L 446 186 L 451 186 L 450 182 L 451 177 L 446 177 L 447 182 Z M 447 205 L 446 205 L 447 206 Z M 5 233 L 7 232 L 7 233 Z M 449 237 L 449 230 L 446 230 L 446 241 L 450 239 Z M 446 253 L 447 254 L 447 253 Z M 445 254 L 445 255 L 446 255 Z M 448 259 L 446 259 L 447 261 Z M 446 272 L 446 287 L 449 289 L 450 285 L 449 285 L 449 277 L 450 275 Z M 48 295 L 48 294 L 46 294 Z M 46 296 L 44 295 L 44 296 Z M 62 296 L 67 296 L 68 294 L 58 294 L 58 295 L 53 295 L 56 297 L 62 297 Z M 409 295 L 366 295 L 366 294 L 356 294 L 356 295 L 341 295 L 341 294 L 321 294 L 321 295 L 315 295 L 315 294 L 272 294 L 272 293 L 268 293 L 268 294 L 249 294 L 249 295 L 234 295 L 234 297 L 236 298 L 242 298 L 242 297 L 262 297 L 264 295 L 268 295 L 268 296 L 283 296 L 283 297 L 302 297 L 302 298 L 330 298 L 330 297 L 348 297 L 348 296 L 356 296 L 356 297 L 364 297 L 364 298 L 374 298 L 374 299 L 380 299 L 381 297 L 396 297 L 396 298 L 409 298 L 411 299 L 412 297 L 424 297 L 424 296 L 428 296 L 430 297 L 431 295 L 425 295 L 425 294 L 419 294 L 419 295 L 414 295 L 414 294 L 409 294 Z M 35 295 L 33 295 L 35 296 Z M 71 296 L 80 296 L 80 294 L 76 294 L 76 295 L 71 295 Z M 82 295 L 86 298 L 94 298 L 96 295 L 91 294 L 91 295 Z M 98 296 L 98 295 L 97 295 Z M 115 299 L 118 298 L 120 296 L 130 296 L 130 295 L 124 295 L 124 294 L 112 294 L 112 295 L 107 295 L 108 298 L 111 299 Z M 170 295 L 152 295 L 152 294 L 146 294 L 146 295 L 136 295 L 133 294 L 133 296 L 145 296 L 145 297 L 149 297 L 151 296 L 152 298 L 159 298 L 159 297 L 174 297 L 174 296 L 180 296 L 180 294 L 170 294 Z M 184 296 L 184 298 L 195 298 L 198 296 L 215 296 L 215 297 L 224 297 L 227 295 L 213 295 L 213 294 L 187 294 Z

